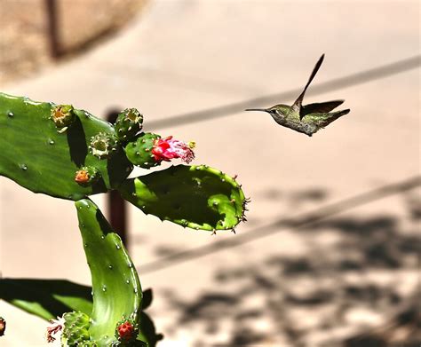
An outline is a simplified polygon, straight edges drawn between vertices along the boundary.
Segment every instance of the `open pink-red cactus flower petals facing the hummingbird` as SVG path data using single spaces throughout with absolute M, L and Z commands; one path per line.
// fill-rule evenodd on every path
M 155 140 L 152 154 L 154 154 L 156 162 L 170 162 L 171 159 L 180 158 L 188 164 L 195 159 L 195 154 L 192 150 L 194 147 L 195 144 L 193 142 L 186 144 L 169 136 L 168 138 Z

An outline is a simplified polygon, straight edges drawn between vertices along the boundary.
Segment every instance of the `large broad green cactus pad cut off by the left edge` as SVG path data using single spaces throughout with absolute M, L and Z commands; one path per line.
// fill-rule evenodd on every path
M 88 150 L 91 138 L 99 132 L 115 136 L 114 127 L 72 108 L 75 121 L 60 133 L 52 121 L 56 106 L 0 93 L 0 176 L 32 192 L 69 200 L 119 185 L 132 169 L 123 148 L 108 160 L 99 160 Z M 99 170 L 94 185 L 75 182 L 75 172 L 83 166 Z

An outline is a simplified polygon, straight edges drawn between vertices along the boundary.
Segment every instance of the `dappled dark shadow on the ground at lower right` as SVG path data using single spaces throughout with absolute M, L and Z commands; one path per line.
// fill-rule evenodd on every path
M 321 201 L 327 193 L 298 195 Z M 418 346 L 419 202 L 412 190 L 401 193 L 396 213 L 294 230 L 310 251 L 219 266 L 211 288 L 193 300 L 167 291 L 178 324 L 166 332 L 195 331 L 195 346 Z

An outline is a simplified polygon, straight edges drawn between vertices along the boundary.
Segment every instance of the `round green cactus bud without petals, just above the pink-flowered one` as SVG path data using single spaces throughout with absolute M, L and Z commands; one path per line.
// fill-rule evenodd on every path
M 142 130 L 143 114 L 136 108 L 126 108 L 115 121 L 115 134 L 120 142 L 128 142 Z

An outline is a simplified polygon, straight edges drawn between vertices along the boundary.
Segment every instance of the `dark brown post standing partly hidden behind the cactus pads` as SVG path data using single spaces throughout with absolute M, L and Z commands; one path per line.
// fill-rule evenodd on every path
M 107 113 L 107 121 L 115 123 L 118 111 L 110 111 Z M 126 248 L 129 248 L 127 237 L 127 209 L 123 198 L 115 190 L 107 193 L 107 215 L 111 226 L 115 232 L 120 235 Z

